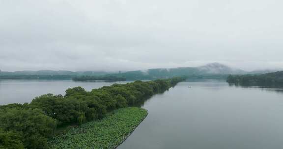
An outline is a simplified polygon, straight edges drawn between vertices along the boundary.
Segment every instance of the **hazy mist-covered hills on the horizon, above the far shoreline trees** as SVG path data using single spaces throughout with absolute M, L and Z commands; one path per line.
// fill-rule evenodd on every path
M 266 74 L 279 70 L 256 70 L 244 71 L 241 69 L 232 68 L 221 63 L 209 63 L 198 67 L 180 67 L 180 68 L 156 68 L 148 70 L 138 70 L 129 72 L 104 72 L 104 71 L 17 71 L 17 72 L 0 72 L 0 75 L 65 75 L 67 78 L 72 76 L 116 76 L 131 80 L 135 79 L 155 79 L 169 78 L 174 76 L 187 76 L 193 78 L 225 78 L 227 75 L 245 75 L 245 74 Z

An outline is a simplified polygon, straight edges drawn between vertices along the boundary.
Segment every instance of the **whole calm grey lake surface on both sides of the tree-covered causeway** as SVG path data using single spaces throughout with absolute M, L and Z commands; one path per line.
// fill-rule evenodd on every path
M 126 82 L 119 82 L 126 83 Z M 113 82 L 0 80 L 0 104 Z M 192 86 L 192 88 L 189 88 Z M 189 80 L 145 101 L 145 120 L 117 149 L 283 149 L 283 90 Z

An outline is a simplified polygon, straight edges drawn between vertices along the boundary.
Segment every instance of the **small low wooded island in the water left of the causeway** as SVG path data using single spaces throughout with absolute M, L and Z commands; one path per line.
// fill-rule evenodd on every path
M 118 77 L 113 75 L 103 75 L 103 76 L 76 76 L 73 77 L 73 81 L 95 81 L 95 80 L 104 80 L 104 81 L 125 81 L 126 78 Z

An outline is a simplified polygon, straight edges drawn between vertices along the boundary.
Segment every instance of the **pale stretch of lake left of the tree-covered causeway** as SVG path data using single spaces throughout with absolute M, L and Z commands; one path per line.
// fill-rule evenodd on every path
M 74 82 L 72 80 L 0 80 L 0 105 L 30 102 L 43 94 L 65 94 L 66 89 L 81 86 L 87 91 L 122 82 Z

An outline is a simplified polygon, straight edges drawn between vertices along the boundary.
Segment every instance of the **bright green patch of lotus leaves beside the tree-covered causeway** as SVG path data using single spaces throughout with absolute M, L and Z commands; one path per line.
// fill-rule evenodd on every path
M 146 117 L 147 110 L 128 107 L 114 110 L 101 121 L 72 128 L 49 142 L 49 149 L 114 149 Z

